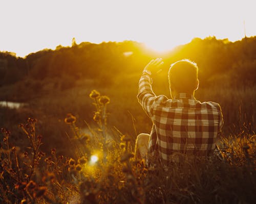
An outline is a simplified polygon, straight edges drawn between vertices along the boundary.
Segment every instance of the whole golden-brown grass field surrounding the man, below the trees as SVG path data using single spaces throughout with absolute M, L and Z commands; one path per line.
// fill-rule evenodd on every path
M 1 203 L 254 203 L 255 87 L 199 89 L 197 99 L 222 107 L 221 151 L 161 168 L 133 158 L 136 135 L 152 125 L 137 83 L 19 83 L 1 88 L 1 99 L 28 103 L 0 108 Z M 91 87 L 110 103 L 94 106 Z

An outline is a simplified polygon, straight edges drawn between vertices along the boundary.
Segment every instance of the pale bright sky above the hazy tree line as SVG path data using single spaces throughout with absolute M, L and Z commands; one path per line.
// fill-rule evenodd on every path
M 194 37 L 256 36 L 249 0 L 0 0 L 0 50 L 24 57 L 76 42 L 135 40 L 156 50 Z

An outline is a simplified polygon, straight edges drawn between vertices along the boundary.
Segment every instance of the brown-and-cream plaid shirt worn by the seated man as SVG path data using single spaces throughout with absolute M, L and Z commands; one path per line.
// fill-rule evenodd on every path
M 201 103 L 186 93 L 173 99 L 156 96 L 151 83 L 150 75 L 143 73 L 137 96 L 154 124 L 148 144 L 148 162 L 156 159 L 163 164 L 177 162 L 180 153 L 211 155 L 223 124 L 220 105 Z

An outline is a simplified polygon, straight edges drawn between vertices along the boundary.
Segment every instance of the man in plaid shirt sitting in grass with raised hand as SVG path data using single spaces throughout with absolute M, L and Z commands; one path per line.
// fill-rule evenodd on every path
M 147 163 L 180 162 L 180 155 L 210 156 L 223 124 L 220 105 L 196 100 L 198 67 L 181 60 L 169 68 L 168 79 L 172 99 L 156 96 L 152 90 L 152 75 L 163 64 L 161 59 L 148 63 L 139 81 L 138 100 L 151 118 L 151 134 L 140 134 L 136 140 L 135 156 Z

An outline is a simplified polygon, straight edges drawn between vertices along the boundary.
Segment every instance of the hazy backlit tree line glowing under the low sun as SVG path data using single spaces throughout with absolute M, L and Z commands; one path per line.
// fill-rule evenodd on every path
M 16 57 L 11 52 L 0 52 L 0 86 L 27 77 L 41 81 L 67 75 L 74 80 L 93 79 L 111 84 L 118 75 L 139 74 L 154 57 L 162 57 L 166 66 L 184 58 L 195 61 L 199 66 L 200 81 L 205 85 L 223 82 L 223 76 L 226 76 L 225 83 L 250 86 L 256 82 L 255 36 L 236 42 L 216 37 L 195 38 L 162 54 L 135 41 L 73 42 L 71 47 L 59 45 L 55 50 L 40 50 L 25 58 Z

